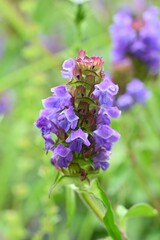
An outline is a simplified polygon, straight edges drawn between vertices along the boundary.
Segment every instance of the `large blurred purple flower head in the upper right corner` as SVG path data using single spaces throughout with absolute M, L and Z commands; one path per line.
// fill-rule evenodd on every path
M 159 9 L 150 7 L 136 16 L 129 9 L 121 10 L 114 16 L 110 28 L 113 42 L 113 62 L 130 57 L 140 61 L 153 75 L 160 67 L 160 20 Z

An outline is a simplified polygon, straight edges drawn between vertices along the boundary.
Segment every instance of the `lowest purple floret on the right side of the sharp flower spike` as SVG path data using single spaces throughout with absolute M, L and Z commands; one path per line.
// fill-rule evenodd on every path
M 105 149 L 101 149 L 97 155 L 93 158 L 93 164 L 96 169 L 101 168 L 103 171 L 105 171 L 109 167 L 109 156 L 111 155 L 111 152 L 106 151 Z

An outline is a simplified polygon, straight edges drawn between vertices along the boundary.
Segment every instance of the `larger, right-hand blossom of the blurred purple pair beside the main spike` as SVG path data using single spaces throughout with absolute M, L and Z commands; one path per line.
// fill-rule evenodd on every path
M 128 83 L 126 92 L 134 98 L 135 102 L 140 104 L 144 104 L 150 96 L 150 93 L 144 83 L 142 83 L 139 79 L 133 79 L 130 83 Z

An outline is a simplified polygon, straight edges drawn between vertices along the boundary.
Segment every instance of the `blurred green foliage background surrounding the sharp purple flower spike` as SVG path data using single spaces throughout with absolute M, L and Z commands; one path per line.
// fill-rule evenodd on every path
M 148 2 L 160 6 L 158 0 Z M 70 226 L 68 190 L 61 187 L 48 197 L 56 171 L 34 122 L 50 88 L 66 82 L 61 65 L 78 49 L 102 56 L 109 71 L 108 27 L 124 3 L 91 0 L 79 6 L 69 0 L 0 0 L 0 94 L 9 90 L 7 101 L 13 105 L 0 116 L 0 240 L 105 238 L 105 229 L 77 196 Z M 148 82 L 148 87 L 152 96 L 145 107 L 136 106 L 113 121 L 121 140 L 99 181 L 115 211 L 118 205 L 129 208 L 139 202 L 160 209 L 159 79 Z M 160 219 L 131 219 L 127 234 L 129 240 L 159 240 Z

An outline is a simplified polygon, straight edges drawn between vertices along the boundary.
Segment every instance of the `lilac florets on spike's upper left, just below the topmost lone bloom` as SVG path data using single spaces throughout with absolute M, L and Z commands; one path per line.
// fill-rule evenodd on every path
M 54 92 L 52 97 L 42 100 L 43 106 L 50 109 L 63 109 L 71 105 L 71 95 L 66 89 L 66 86 L 61 85 L 51 89 Z

